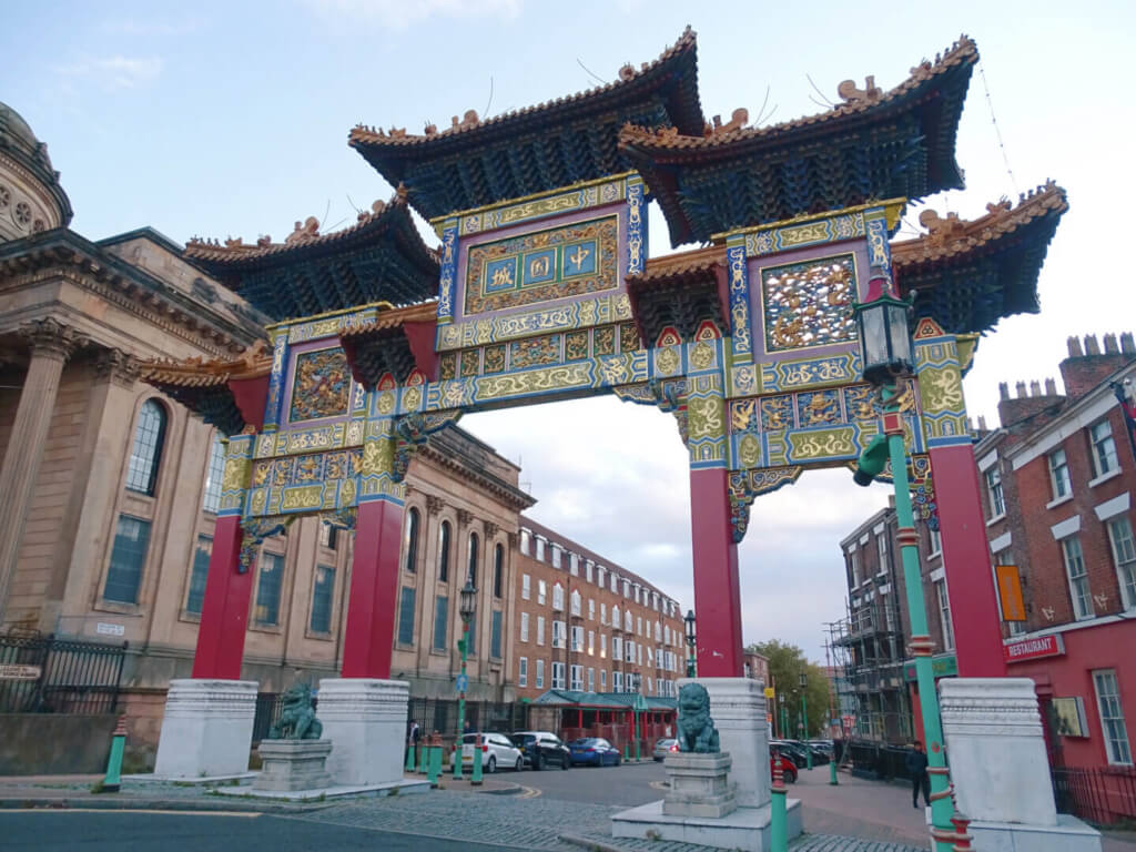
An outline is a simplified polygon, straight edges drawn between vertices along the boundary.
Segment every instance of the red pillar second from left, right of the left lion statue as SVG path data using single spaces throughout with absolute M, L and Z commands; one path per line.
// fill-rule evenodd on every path
M 391 676 L 401 541 L 400 503 L 375 500 L 359 504 L 343 636 L 343 677 Z

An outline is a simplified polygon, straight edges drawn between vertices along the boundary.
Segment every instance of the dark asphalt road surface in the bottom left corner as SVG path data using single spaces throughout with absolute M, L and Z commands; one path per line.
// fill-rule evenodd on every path
M 265 852 L 265 850 L 383 850 L 383 852 L 521 852 L 486 845 L 314 822 L 262 813 L 36 810 L 0 812 L 5 852 Z

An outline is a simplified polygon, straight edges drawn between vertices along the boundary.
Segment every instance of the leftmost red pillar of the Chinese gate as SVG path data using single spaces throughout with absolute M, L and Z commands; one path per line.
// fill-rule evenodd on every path
M 251 567 L 244 574 L 237 573 L 243 540 L 239 515 L 217 518 L 201 605 L 198 650 L 193 655 L 195 678 L 241 679 L 253 577 Z

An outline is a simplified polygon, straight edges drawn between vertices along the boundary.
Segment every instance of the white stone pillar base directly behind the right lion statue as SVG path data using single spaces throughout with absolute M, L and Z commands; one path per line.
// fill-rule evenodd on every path
M 690 680 L 680 679 L 678 688 L 685 683 Z M 737 807 L 763 808 L 770 800 L 765 684 L 749 677 L 703 677 L 694 683 L 710 694 L 710 717 L 721 750 L 734 760 L 729 779 Z

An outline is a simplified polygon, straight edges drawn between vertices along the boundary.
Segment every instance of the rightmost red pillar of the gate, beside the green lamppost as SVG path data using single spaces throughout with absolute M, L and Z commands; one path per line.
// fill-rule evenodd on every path
M 1005 677 L 997 592 L 974 450 L 969 444 L 932 448 L 930 468 L 959 676 Z

